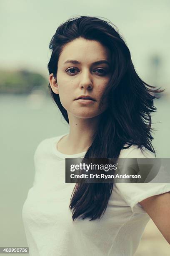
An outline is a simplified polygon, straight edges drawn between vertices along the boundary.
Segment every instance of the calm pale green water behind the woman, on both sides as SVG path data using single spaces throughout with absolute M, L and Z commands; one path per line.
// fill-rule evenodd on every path
M 170 100 L 156 101 L 153 117 L 157 157 L 169 158 Z M 50 97 L 0 95 L 0 246 L 27 246 L 22 207 L 34 178 L 33 155 L 44 138 L 69 128 Z

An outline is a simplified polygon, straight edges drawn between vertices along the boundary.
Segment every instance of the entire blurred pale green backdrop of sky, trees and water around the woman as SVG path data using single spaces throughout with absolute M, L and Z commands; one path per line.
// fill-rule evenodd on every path
M 111 20 L 140 77 L 166 88 L 155 100 L 153 146 L 157 157 L 170 158 L 169 13 L 169 0 L 0 0 L 0 246 L 27 246 L 22 207 L 34 179 L 35 149 L 43 139 L 69 130 L 47 93 L 49 42 L 68 18 Z M 170 255 L 152 221 L 135 254 L 143 255 Z

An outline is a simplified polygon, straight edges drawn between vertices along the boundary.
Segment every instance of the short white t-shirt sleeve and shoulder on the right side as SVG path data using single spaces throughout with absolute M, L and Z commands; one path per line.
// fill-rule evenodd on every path
M 129 148 L 130 149 L 130 148 Z M 122 155 L 122 158 L 124 156 Z M 155 155 L 147 149 L 141 151 L 137 146 L 126 154 L 126 158 L 155 158 Z M 115 186 L 120 192 L 128 206 L 134 213 L 145 213 L 145 210 L 139 204 L 142 200 L 170 192 L 170 183 L 116 183 Z

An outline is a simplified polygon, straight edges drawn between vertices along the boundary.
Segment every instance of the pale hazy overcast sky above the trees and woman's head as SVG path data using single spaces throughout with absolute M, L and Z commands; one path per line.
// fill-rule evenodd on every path
M 60 23 L 77 15 L 111 20 L 140 77 L 150 79 L 149 59 L 157 54 L 161 81 L 170 82 L 169 0 L 0 0 L 0 68 L 28 68 L 47 76 L 50 39 Z

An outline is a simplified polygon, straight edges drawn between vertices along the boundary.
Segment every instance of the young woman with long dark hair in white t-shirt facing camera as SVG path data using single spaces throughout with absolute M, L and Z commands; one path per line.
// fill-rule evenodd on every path
M 111 22 L 77 17 L 50 41 L 49 89 L 68 134 L 35 151 L 23 206 L 30 256 L 132 256 L 153 219 L 170 243 L 170 184 L 65 184 L 65 158 L 153 158 L 150 113 L 161 92 L 136 73 Z

